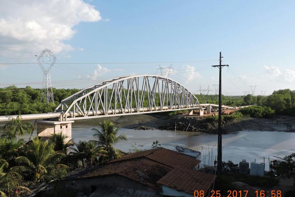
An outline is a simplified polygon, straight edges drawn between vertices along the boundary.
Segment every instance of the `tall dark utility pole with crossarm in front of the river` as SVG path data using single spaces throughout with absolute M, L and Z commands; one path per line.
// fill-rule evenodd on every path
M 221 175 L 221 169 L 222 169 L 222 109 L 221 109 L 221 70 L 222 67 L 228 66 L 228 65 L 222 65 L 221 61 L 221 52 L 219 52 L 219 65 L 215 65 L 212 67 L 219 67 L 219 108 L 218 108 L 218 138 L 217 138 L 217 176 Z

